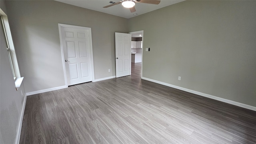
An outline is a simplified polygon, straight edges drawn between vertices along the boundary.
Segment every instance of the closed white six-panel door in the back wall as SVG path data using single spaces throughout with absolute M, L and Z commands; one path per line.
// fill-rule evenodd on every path
M 90 30 L 61 27 L 68 86 L 92 81 Z

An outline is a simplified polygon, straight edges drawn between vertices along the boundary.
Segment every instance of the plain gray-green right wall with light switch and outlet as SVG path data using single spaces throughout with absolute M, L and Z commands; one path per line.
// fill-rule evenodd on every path
M 129 26 L 144 30 L 143 77 L 256 106 L 256 1 L 184 1 Z

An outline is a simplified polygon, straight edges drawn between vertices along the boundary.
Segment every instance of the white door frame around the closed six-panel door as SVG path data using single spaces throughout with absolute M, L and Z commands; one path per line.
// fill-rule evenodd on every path
M 76 28 L 76 29 L 82 29 L 82 30 L 88 30 L 89 31 L 89 45 L 90 45 L 90 60 L 91 60 L 91 66 L 92 66 L 92 82 L 95 81 L 94 79 L 94 64 L 93 64 L 93 53 L 92 53 L 92 29 L 84 26 L 74 26 L 69 24 L 58 24 L 59 27 L 59 35 L 60 35 L 60 49 L 61 49 L 61 56 L 62 56 L 62 66 L 64 71 L 64 77 L 65 77 L 65 86 L 68 87 L 68 80 L 67 80 L 67 74 L 66 74 L 66 66 L 65 66 L 65 57 L 64 57 L 64 50 L 63 50 L 63 44 L 62 44 L 62 35 L 61 35 L 61 28 Z

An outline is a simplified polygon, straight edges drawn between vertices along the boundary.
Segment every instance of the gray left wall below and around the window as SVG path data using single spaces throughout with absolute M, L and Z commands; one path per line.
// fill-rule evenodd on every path
M 0 8 L 4 11 L 5 6 L 2 0 Z M 6 13 L 6 11 L 4 11 Z M 2 26 L 0 27 L 0 144 L 14 144 L 20 116 L 22 114 L 22 104 L 25 96 L 24 85 L 18 91 L 14 84 L 12 69 L 6 50 L 6 42 Z M 23 95 L 21 95 L 21 91 Z

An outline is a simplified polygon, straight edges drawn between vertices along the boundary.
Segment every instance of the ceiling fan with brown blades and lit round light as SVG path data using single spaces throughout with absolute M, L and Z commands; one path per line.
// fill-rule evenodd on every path
M 110 5 L 104 6 L 103 8 L 108 8 L 110 6 L 114 6 L 122 3 L 122 6 L 124 6 L 125 8 L 130 8 L 131 12 L 136 12 L 136 9 L 134 8 L 136 2 L 145 3 L 145 4 L 159 4 L 160 0 L 121 0 L 120 2 L 110 2 L 111 3 Z

